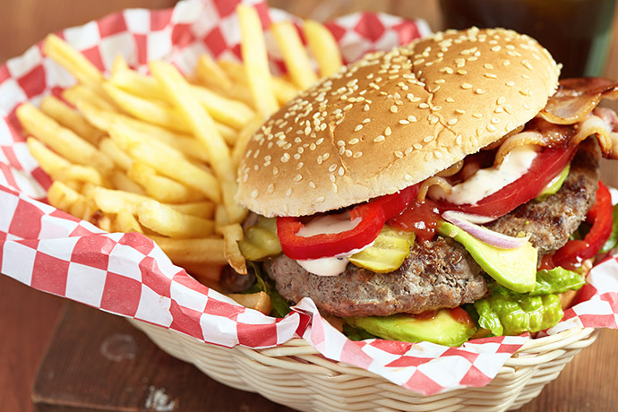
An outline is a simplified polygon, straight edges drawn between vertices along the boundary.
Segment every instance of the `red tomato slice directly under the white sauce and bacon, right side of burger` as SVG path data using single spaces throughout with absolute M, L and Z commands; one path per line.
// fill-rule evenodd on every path
M 566 167 L 577 146 L 558 149 L 545 149 L 532 161 L 532 165 L 518 180 L 502 187 L 476 204 L 455 204 L 439 202 L 440 210 L 459 210 L 475 215 L 500 218 L 517 208 L 520 204 L 534 199 L 546 185 Z

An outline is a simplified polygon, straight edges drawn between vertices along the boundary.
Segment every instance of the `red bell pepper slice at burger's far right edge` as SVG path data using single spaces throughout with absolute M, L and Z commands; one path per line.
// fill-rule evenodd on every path
M 597 199 L 586 215 L 586 221 L 592 225 L 590 231 L 583 240 L 571 240 L 553 255 L 544 258 L 543 269 L 548 266 L 562 266 L 565 269 L 577 268 L 581 262 L 597 254 L 612 235 L 613 211 L 612 195 L 607 186 L 599 182 Z

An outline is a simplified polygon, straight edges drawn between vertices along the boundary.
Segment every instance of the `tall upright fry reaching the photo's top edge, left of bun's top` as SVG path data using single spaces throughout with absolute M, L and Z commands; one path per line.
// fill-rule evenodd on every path
M 238 4 L 236 13 L 240 21 L 245 73 L 253 94 L 254 106 L 262 116 L 270 116 L 279 109 L 279 103 L 272 90 L 262 23 L 258 13 L 250 5 Z

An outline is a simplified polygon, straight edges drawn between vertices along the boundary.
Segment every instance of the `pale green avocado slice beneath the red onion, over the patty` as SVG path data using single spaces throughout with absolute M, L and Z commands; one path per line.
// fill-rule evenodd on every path
M 529 242 L 517 249 L 501 249 L 487 245 L 444 221 L 438 223 L 438 233 L 452 237 L 463 245 L 476 263 L 504 288 L 519 293 L 535 289 L 537 252 Z

